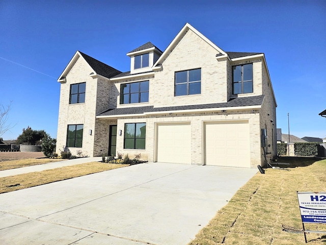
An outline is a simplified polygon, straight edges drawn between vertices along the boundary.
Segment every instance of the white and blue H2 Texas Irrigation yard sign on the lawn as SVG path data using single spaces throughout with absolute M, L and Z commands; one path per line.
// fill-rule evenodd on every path
M 326 233 L 326 231 L 305 230 L 304 223 L 326 224 L 326 192 L 296 192 L 299 202 L 302 226 L 306 233 Z

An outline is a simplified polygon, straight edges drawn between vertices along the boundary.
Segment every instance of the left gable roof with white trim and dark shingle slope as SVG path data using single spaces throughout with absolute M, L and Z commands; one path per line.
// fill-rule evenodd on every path
M 98 61 L 80 51 L 77 51 L 66 66 L 66 68 L 64 69 L 64 71 L 62 72 L 62 74 L 60 75 L 58 82 L 64 82 L 69 71 L 79 58 L 84 59 L 86 63 L 89 64 L 89 66 L 92 68 L 93 72 L 91 72 L 90 74 L 92 76 L 100 75 L 105 78 L 112 78 L 121 73 L 120 70 L 117 70 L 111 67 L 110 65 L 106 65 L 101 61 Z

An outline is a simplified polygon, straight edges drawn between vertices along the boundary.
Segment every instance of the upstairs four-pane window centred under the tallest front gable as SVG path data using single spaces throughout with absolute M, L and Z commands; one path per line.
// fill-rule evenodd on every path
M 201 69 L 175 72 L 175 96 L 200 94 Z

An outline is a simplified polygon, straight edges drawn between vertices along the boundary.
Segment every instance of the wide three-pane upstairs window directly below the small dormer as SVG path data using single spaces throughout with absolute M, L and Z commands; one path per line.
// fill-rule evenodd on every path
M 148 102 L 149 81 L 120 85 L 120 104 Z

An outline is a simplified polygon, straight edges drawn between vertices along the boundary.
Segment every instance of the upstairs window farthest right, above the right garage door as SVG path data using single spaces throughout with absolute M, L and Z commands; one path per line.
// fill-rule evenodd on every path
M 237 65 L 232 67 L 233 94 L 252 93 L 253 64 Z

